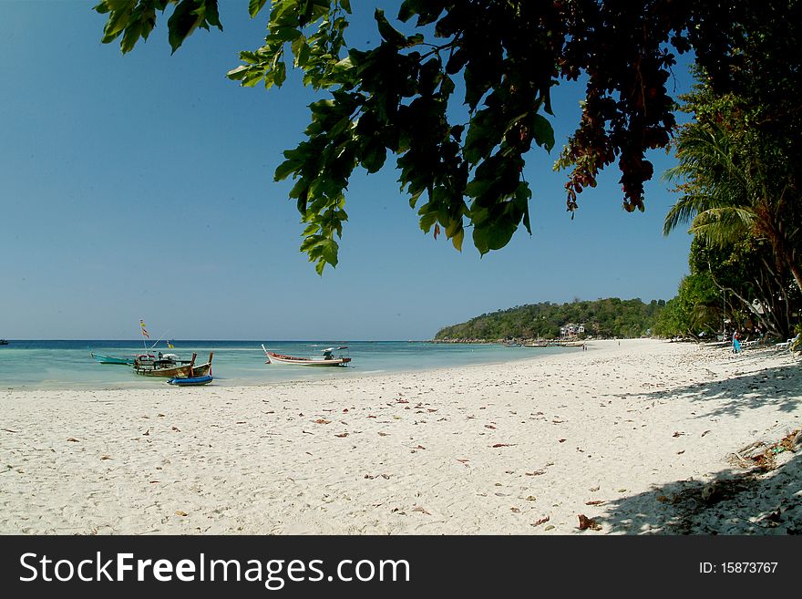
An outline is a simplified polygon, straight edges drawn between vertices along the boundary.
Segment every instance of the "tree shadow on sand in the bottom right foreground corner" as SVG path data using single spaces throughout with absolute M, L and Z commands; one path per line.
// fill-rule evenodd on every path
M 789 454 L 788 454 L 789 455 Z M 591 516 L 612 534 L 800 534 L 802 455 L 765 469 L 721 470 L 604 504 Z

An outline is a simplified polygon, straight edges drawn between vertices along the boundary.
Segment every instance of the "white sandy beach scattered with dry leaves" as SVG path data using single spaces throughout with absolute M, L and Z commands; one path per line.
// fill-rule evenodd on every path
M 164 387 L 0 391 L 0 533 L 802 532 L 802 460 L 766 451 L 800 428 L 787 351 Z

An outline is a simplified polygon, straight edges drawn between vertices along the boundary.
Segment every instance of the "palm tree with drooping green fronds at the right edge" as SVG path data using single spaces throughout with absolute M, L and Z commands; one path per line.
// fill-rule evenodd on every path
M 665 173 L 665 179 L 683 181 L 676 190 L 684 195 L 666 215 L 663 234 L 690 222 L 689 232 L 711 245 L 724 247 L 746 235 L 766 239 L 777 266 L 787 268 L 802 291 L 799 198 L 787 157 L 777 144 L 748 137 L 752 143 L 715 122 L 684 126 L 677 139 L 679 164 Z

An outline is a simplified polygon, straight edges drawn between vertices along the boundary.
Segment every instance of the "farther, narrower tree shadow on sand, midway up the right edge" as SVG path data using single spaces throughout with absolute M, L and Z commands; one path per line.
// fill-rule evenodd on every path
M 802 373 L 797 372 L 797 368 L 771 367 L 725 380 L 674 387 L 670 391 L 628 393 L 620 397 L 665 401 L 682 396 L 690 396 L 693 402 L 715 403 L 714 408 L 698 418 L 738 415 L 764 406 L 792 413 L 802 406 Z

